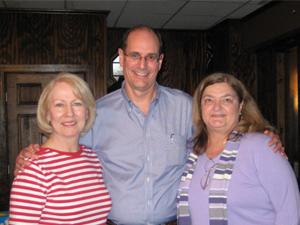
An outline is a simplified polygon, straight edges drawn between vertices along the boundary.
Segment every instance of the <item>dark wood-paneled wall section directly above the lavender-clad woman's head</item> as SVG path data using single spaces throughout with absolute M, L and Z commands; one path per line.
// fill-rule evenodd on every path
M 243 49 L 241 20 L 226 20 L 209 32 L 213 52 L 209 72 L 221 71 L 234 75 L 257 99 L 256 55 Z

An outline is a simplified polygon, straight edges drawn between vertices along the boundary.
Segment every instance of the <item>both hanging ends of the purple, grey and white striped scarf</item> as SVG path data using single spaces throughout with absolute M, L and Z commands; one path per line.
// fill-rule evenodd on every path
M 210 225 L 227 224 L 227 192 L 231 179 L 234 162 L 243 134 L 233 131 L 223 150 L 220 160 L 213 175 L 209 192 L 209 217 Z M 177 195 L 177 223 L 190 225 L 190 212 L 188 195 L 190 183 L 195 171 L 198 156 L 191 153 L 187 166 L 181 177 Z

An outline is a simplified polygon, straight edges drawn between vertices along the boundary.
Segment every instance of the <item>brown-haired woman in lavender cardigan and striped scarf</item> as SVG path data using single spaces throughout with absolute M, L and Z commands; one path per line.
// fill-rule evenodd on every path
M 179 225 L 299 224 L 294 172 L 271 151 L 262 132 L 274 129 L 238 79 L 205 78 L 194 95 L 193 122 L 193 152 L 177 196 Z

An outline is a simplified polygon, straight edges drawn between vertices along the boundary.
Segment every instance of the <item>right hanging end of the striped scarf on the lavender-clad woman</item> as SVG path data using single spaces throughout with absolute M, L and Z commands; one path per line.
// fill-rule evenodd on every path
M 231 134 L 219 159 L 209 191 L 210 225 L 227 225 L 227 193 L 242 135 Z

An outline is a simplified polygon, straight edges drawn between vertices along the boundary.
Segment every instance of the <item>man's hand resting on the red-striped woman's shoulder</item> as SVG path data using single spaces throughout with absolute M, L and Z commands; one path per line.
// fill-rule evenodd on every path
M 39 156 L 34 154 L 36 151 L 40 150 L 40 145 L 31 144 L 27 148 L 24 148 L 16 159 L 16 167 L 14 171 L 15 177 L 18 175 L 19 171 L 24 171 L 24 166 L 30 166 L 31 162 L 27 161 L 27 158 L 38 159 Z

